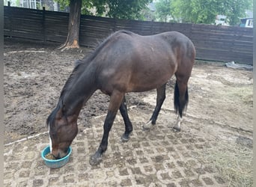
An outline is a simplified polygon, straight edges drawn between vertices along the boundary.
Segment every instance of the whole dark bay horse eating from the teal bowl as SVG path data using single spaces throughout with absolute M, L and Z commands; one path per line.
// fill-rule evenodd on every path
M 123 141 L 128 141 L 132 123 L 127 114 L 125 93 L 150 91 L 156 88 L 156 108 L 149 125 L 156 118 L 165 100 L 165 85 L 176 76 L 174 108 L 178 113 L 174 129 L 180 130 L 183 111 L 189 99 L 187 83 L 195 62 L 195 47 L 191 40 L 176 31 L 152 36 L 140 36 L 130 31 L 117 31 L 108 37 L 91 55 L 77 61 L 76 67 L 61 91 L 56 108 L 47 118 L 52 155 L 62 158 L 78 132 L 77 119 L 82 106 L 100 89 L 110 96 L 100 147 L 91 156 L 97 165 L 108 146 L 109 131 L 118 109 L 124 118 Z

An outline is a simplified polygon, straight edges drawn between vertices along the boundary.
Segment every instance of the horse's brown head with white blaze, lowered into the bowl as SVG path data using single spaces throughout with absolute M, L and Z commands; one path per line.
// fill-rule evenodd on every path
M 46 122 L 49 125 L 49 146 L 56 159 L 67 155 L 68 147 L 78 132 L 76 121 L 77 117 L 67 116 L 62 108 L 55 108 L 49 115 Z

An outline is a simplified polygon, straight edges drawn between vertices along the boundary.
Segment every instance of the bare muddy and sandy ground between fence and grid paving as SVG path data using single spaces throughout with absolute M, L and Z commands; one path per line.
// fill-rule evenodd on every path
M 88 51 L 90 49 L 82 48 L 60 52 L 52 43 L 4 41 L 4 144 L 47 131 L 46 117 L 55 107 L 74 61 Z M 160 128 L 167 126 L 170 130 L 177 117 L 173 107 L 173 82 L 174 79 L 168 82 L 167 98 L 159 114 L 161 124 L 156 121 Z M 197 61 L 189 79 L 189 105 L 183 132 L 189 131 L 193 137 L 216 141 L 216 144 L 239 143 L 252 149 L 252 84 L 251 71 Z M 156 91 L 127 93 L 132 123 L 135 126 L 146 123 L 155 103 Z M 106 114 L 108 104 L 109 96 L 100 91 L 94 93 L 80 113 L 79 135 L 101 126 L 99 123 L 103 123 L 104 118 L 99 121 L 95 117 Z M 120 114 L 115 121 L 122 123 Z M 112 131 L 115 132 L 115 124 Z M 141 129 L 135 128 L 135 131 Z

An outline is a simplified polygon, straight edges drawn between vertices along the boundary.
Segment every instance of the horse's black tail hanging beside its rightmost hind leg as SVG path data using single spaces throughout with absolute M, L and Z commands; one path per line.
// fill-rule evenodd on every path
M 174 109 L 175 109 L 176 114 L 177 114 L 177 112 L 179 112 L 180 117 L 183 116 L 183 111 L 184 110 L 186 111 L 186 106 L 188 105 L 188 102 L 189 102 L 188 87 L 186 86 L 184 98 L 180 98 L 180 89 L 179 89 L 179 85 L 176 81 L 175 88 L 174 88 Z

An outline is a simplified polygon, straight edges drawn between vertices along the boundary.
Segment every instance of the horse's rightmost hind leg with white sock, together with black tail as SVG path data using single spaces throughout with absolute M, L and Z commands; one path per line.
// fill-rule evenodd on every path
M 186 105 L 189 102 L 189 93 L 187 88 L 188 79 L 180 80 L 177 78 L 174 88 L 174 108 L 178 113 L 177 122 L 174 125 L 174 129 L 180 131 L 180 123 L 182 122 L 183 111 L 186 109 Z

